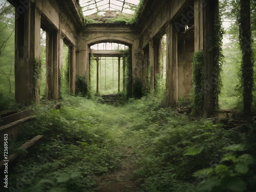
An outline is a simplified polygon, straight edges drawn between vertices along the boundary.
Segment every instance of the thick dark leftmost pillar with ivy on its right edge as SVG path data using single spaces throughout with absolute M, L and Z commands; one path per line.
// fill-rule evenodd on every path
M 24 13 L 15 11 L 15 100 L 26 105 L 39 101 L 33 76 L 35 58 L 40 59 L 40 13 L 28 4 Z

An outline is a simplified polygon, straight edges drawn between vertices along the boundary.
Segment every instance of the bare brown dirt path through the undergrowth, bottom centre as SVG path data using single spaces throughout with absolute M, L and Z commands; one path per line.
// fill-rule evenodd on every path
M 101 176 L 97 183 L 101 187 L 98 192 L 141 192 L 135 180 L 132 178 L 132 173 L 136 169 L 134 155 L 131 149 L 125 147 L 125 155 L 122 158 L 121 167 L 108 175 Z

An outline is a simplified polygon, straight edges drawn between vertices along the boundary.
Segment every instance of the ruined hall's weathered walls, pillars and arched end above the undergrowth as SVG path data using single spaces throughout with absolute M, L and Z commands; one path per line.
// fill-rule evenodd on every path
M 209 82 L 205 91 L 204 113 L 213 114 L 215 83 L 214 52 L 204 44 L 214 36 L 214 22 L 218 17 L 218 1 L 144 1 L 134 24 L 122 22 L 106 23 L 104 19 L 118 18 L 118 14 L 131 17 L 139 1 L 9 1 L 16 9 L 15 20 L 15 99 L 18 103 L 39 102 L 33 74 L 35 58 L 40 59 L 40 30 L 46 31 L 47 99 L 59 98 L 59 69 L 62 68 L 63 44 L 69 49 L 69 90 L 75 93 L 76 76 L 85 76 L 90 81 L 90 59 L 97 61 L 96 91 L 101 83 L 99 70 L 103 58 L 118 60 L 118 90 L 120 91 L 121 68 L 124 67 L 123 52 L 131 52 L 132 66 L 129 69 L 130 90 L 139 79 L 146 87 L 154 90 L 156 76 L 166 76 L 166 106 L 177 104 L 178 98 L 186 98 L 192 87 L 192 56 L 199 50 L 207 53 L 205 71 Z M 154 8 L 154 9 L 153 9 Z M 154 10 L 154 11 L 152 11 Z M 90 23 L 87 18 L 94 20 Z M 98 14 L 98 16 L 96 16 Z M 165 38 L 164 68 L 160 67 L 162 39 Z M 103 46 L 102 50 L 96 45 Z M 106 46 L 125 46 L 106 49 Z M 92 49 L 92 47 L 96 49 Z M 105 48 L 104 48 L 105 46 Z M 162 58 L 163 59 L 163 58 Z M 121 61 L 120 61 L 121 60 Z M 99 62 L 102 61 L 102 62 Z M 113 68 L 114 70 L 114 68 Z M 96 74 L 95 73 L 95 74 Z M 103 73 L 103 72 L 102 72 Z M 114 75 L 113 75 L 114 78 Z M 103 83 L 103 82 L 102 82 Z M 124 83 L 123 80 L 121 84 Z M 127 83 L 127 82 L 126 82 Z M 113 85 L 114 86 L 114 85 Z M 122 85 L 121 85 L 122 86 Z M 117 86 L 115 86 L 117 87 Z M 129 93 L 130 92 L 130 93 Z

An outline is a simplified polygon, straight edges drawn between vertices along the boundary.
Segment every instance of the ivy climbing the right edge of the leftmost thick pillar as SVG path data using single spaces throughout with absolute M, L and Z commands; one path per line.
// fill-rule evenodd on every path
M 35 86 L 35 95 L 38 93 L 40 94 L 40 83 L 41 83 L 41 76 L 42 76 L 42 69 L 41 69 L 41 60 L 38 58 L 35 58 L 34 65 L 34 86 Z

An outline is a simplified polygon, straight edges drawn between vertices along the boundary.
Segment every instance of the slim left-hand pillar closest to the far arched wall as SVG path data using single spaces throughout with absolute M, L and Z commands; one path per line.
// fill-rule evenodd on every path
M 75 58 L 76 58 L 75 47 L 69 46 L 69 91 L 70 91 L 70 94 L 75 94 L 75 81 L 76 81 Z

